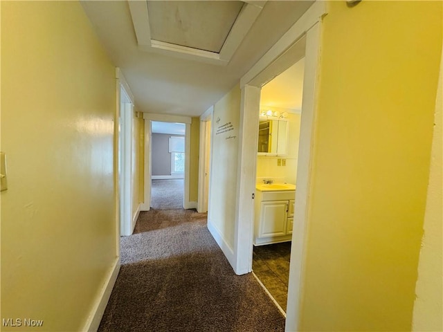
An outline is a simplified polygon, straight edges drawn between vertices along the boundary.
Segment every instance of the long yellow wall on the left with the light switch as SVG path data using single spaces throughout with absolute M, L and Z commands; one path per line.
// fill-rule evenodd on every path
M 80 3 L 1 1 L 2 319 L 83 328 L 116 261 L 115 111 L 115 69 Z

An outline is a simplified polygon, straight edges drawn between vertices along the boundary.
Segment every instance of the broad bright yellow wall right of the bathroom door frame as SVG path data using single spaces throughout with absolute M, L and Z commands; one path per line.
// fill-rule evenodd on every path
M 301 331 L 411 329 L 442 6 L 329 2 Z

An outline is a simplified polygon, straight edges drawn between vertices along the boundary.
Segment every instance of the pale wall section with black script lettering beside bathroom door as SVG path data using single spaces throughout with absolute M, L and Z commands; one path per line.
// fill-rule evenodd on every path
M 239 112 L 240 89 L 237 84 L 214 105 L 208 207 L 208 223 L 217 229 L 231 250 L 235 232 Z M 221 133 L 219 129 L 228 122 L 234 130 Z

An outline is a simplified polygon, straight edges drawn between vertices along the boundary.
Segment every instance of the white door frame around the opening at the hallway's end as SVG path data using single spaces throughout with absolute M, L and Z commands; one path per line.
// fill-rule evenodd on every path
M 192 118 L 189 116 L 170 116 L 167 114 L 143 113 L 145 119 L 145 199 L 141 204 L 141 211 L 151 208 L 151 178 L 152 178 L 152 121 L 179 122 L 186 124 L 185 129 L 185 193 L 183 196 L 183 209 L 197 208 L 196 202 L 189 201 L 190 178 L 190 129 Z

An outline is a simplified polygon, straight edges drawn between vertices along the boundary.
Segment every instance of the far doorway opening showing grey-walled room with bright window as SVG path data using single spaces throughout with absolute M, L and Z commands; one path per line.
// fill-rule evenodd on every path
M 184 206 L 186 124 L 151 121 L 151 208 Z

